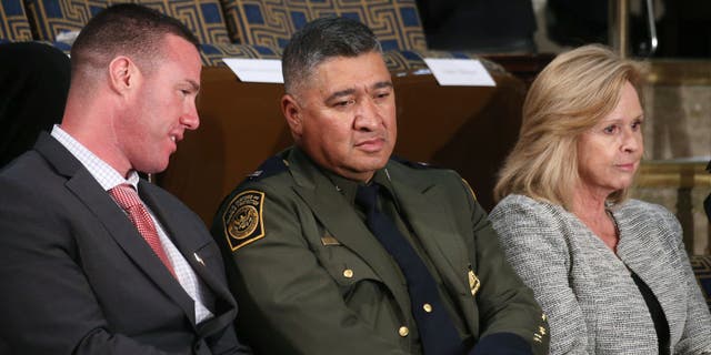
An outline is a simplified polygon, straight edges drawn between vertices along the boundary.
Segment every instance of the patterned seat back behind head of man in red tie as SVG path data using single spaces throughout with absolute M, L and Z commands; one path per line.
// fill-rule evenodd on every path
M 201 43 L 228 43 L 219 0 L 26 0 L 38 39 L 53 41 L 60 32 L 78 31 L 106 7 L 138 2 L 170 14 L 196 33 Z

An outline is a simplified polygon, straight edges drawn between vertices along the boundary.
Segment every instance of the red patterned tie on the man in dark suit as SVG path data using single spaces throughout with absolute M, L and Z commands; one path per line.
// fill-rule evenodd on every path
M 173 277 L 176 277 L 173 266 L 170 263 L 168 255 L 166 255 L 163 245 L 160 243 L 160 237 L 158 236 L 158 231 L 156 231 L 153 220 L 148 213 L 148 210 L 146 210 L 146 206 L 141 202 L 141 199 L 138 196 L 138 192 L 136 192 L 132 185 L 121 184 L 109 190 L 109 193 L 111 194 L 113 200 L 116 200 L 116 202 L 128 213 L 129 220 L 133 222 L 133 225 L 136 225 L 138 232 L 141 233 L 148 245 L 151 246 L 153 253 L 158 255 L 158 258 L 163 262 L 163 265 L 166 265 L 166 267 L 168 267 L 168 271 L 170 271 Z

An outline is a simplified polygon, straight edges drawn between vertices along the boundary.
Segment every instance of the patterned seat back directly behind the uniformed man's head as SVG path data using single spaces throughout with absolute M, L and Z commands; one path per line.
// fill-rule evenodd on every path
M 283 48 L 308 21 L 342 16 L 370 27 L 383 50 L 424 50 L 414 0 L 222 0 L 236 43 Z

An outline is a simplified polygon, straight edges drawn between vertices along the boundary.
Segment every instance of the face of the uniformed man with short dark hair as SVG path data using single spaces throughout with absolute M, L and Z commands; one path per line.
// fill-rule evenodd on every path
M 379 52 L 326 60 L 282 109 L 297 144 L 351 180 L 369 181 L 395 144 L 394 90 Z

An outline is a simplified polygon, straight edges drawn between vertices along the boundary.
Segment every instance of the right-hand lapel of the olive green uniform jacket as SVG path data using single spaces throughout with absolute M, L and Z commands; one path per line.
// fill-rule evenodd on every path
M 444 284 L 457 293 L 468 293 L 469 258 L 453 224 L 453 211 L 444 203 L 442 187 L 430 182 L 418 183 L 411 176 L 405 179 L 394 166 L 388 171 L 404 217 Z

